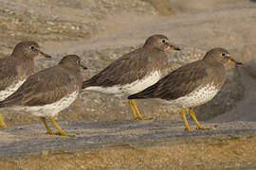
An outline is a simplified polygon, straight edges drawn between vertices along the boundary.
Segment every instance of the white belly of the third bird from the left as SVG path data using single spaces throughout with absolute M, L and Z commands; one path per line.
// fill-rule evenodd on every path
M 131 84 L 125 84 L 125 85 L 115 85 L 112 87 L 106 87 L 102 88 L 100 86 L 94 86 L 94 87 L 88 87 L 84 89 L 85 91 L 96 91 L 100 93 L 112 93 L 117 96 L 128 96 L 133 93 L 138 93 L 147 87 L 152 86 L 155 84 L 159 79 L 161 78 L 161 75 L 158 71 L 155 71 L 154 73 L 150 74 L 149 76 L 146 76 L 142 79 L 139 79 L 137 81 L 132 82 Z

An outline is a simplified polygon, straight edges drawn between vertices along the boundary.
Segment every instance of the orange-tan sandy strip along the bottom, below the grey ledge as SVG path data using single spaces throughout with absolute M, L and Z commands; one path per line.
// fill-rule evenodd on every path
M 7 169 L 256 169 L 255 138 L 48 155 L 0 161 Z M 222 154 L 220 154 L 222 153 Z

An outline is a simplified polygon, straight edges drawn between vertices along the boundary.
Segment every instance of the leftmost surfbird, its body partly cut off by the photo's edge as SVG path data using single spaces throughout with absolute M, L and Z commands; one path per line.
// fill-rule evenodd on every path
M 0 101 L 14 93 L 34 71 L 36 56 L 50 58 L 37 42 L 19 42 L 11 55 L 0 59 Z M 7 127 L 0 112 L 0 127 Z

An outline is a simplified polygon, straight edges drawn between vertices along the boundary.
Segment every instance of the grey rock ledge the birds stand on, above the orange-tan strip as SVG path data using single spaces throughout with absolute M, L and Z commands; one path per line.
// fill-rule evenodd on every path
M 216 129 L 188 132 L 182 121 L 106 121 L 66 122 L 58 124 L 77 137 L 46 135 L 42 122 L 1 129 L 0 160 L 15 160 L 82 151 L 143 148 L 155 145 L 194 144 L 256 137 L 256 122 L 219 123 Z M 190 124 L 192 124 L 190 122 Z M 202 123 L 212 126 L 209 123 Z M 191 126 L 193 127 L 193 126 Z M 193 127 L 194 128 L 194 127 Z

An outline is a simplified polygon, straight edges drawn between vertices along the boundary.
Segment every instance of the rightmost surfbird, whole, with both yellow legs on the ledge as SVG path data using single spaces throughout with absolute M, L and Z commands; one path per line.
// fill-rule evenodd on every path
M 241 65 L 241 62 L 232 59 L 224 48 L 213 48 L 204 59 L 184 65 L 164 76 L 153 86 L 140 93 L 132 94 L 128 99 L 155 98 L 160 102 L 175 105 L 181 108 L 181 115 L 187 130 L 189 127 L 186 119 L 186 110 L 192 116 L 197 129 L 210 129 L 203 127 L 196 120 L 193 108 L 209 102 L 218 93 L 225 83 L 226 72 L 229 64 Z

